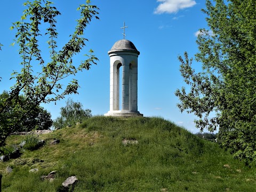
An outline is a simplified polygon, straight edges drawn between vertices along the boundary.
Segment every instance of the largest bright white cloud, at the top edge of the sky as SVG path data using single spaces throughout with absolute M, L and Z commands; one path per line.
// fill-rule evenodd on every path
M 157 0 L 161 2 L 154 11 L 155 14 L 176 13 L 181 9 L 192 7 L 196 4 L 194 0 Z

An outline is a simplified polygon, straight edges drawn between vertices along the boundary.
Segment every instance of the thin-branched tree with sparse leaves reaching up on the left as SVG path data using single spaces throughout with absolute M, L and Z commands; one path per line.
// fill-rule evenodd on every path
M 5 139 L 14 132 L 17 125 L 26 118 L 27 112 L 22 113 L 23 109 L 29 111 L 39 103 L 57 101 L 65 95 L 77 93 L 79 87 L 77 79 L 73 79 L 68 85 L 63 85 L 63 79 L 74 76 L 78 71 L 89 70 L 90 66 L 98 59 L 93 55 L 87 55 L 87 59 L 80 65 L 73 64 L 73 57 L 78 54 L 85 46 L 86 38 L 83 37 L 84 30 L 90 21 L 98 14 L 98 7 L 86 4 L 78 7 L 81 17 L 77 20 L 74 34 L 70 35 L 69 41 L 63 46 L 57 46 L 58 33 L 56 30 L 57 20 L 60 12 L 53 6 L 52 2 L 43 0 L 27 1 L 24 3 L 27 9 L 23 12 L 21 21 L 13 23 L 11 29 L 17 30 L 15 43 L 19 45 L 22 69 L 20 73 L 14 72 L 15 85 L 11 87 L 9 97 L 0 101 L 0 146 L 4 145 Z M 41 28 L 42 23 L 47 25 L 46 31 Z M 41 57 L 39 49 L 39 37 L 49 37 L 49 57 L 50 61 L 45 62 Z M 47 57 L 48 58 L 48 57 Z M 40 71 L 33 71 L 33 66 L 41 66 Z M 21 102 L 19 94 L 25 95 L 26 101 Z M 6 110 L 12 106 L 12 102 L 19 103 L 20 106 L 14 107 L 12 114 Z M 22 106 L 21 106 L 22 105 Z

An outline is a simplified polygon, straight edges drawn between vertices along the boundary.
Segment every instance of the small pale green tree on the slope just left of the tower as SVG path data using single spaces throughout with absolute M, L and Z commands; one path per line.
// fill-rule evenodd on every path
M 89 117 L 92 117 L 90 109 L 83 109 L 81 102 L 74 102 L 69 98 L 66 106 L 60 108 L 60 117 L 54 120 L 53 126 L 55 129 L 61 129 L 67 125 L 75 125 Z

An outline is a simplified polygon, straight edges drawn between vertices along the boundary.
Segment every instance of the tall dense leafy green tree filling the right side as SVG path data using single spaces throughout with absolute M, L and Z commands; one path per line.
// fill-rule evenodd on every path
M 195 59 L 202 72 L 195 73 L 185 52 L 180 71 L 190 86 L 177 90 L 181 111 L 199 117 L 196 126 L 210 131 L 219 126 L 222 147 L 247 164 L 256 161 L 256 3 L 254 0 L 206 1 L 209 30 L 198 35 Z M 209 114 L 215 111 L 215 117 Z

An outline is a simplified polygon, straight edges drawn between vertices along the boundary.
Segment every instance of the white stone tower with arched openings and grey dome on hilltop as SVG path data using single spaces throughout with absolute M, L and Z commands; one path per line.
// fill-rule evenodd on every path
M 134 44 L 117 41 L 108 52 L 110 57 L 110 110 L 105 116 L 143 116 L 138 111 L 138 55 Z M 119 69 L 122 68 L 121 73 Z M 119 75 L 122 75 L 122 108 L 119 108 Z

